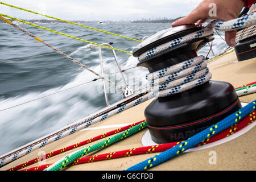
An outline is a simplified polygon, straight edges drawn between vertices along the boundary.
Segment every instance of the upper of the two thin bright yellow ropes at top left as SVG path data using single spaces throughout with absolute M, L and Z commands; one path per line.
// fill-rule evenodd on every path
M 125 38 L 125 39 L 130 39 L 130 40 L 135 40 L 135 41 L 141 42 L 141 40 L 132 39 L 132 38 L 127 38 L 126 36 L 122 36 L 122 35 L 118 35 L 118 34 L 113 34 L 113 33 L 111 33 L 111 32 L 107 32 L 107 31 L 104 31 L 104 30 L 99 30 L 99 29 L 97 29 L 97 28 L 88 27 L 88 26 L 84 26 L 84 25 L 82 25 L 82 24 L 77 24 L 77 23 L 74 23 L 74 22 L 69 22 L 69 21 L 67 21 L 67 20 L 55 18 L 55 17 L 53 17 L 53 16 L 48 16 L 48 15 L 36 13 L 35 11 L 26 10 L 26 9 L 23 9 L 22 7 L 18 7 L 18 6 L 14 6 L 14 5 L 9 5 L 9 4 L 4 3 L 4 2 L 0 2 L 0 4 L 5 5 L 5 6 L 14 7 L 14 8 L 19 9 L 19 10 L 27 11 L 27 12 L 29 12 L 29 13 L 34 13 L 34 14 L 41 15 L 41 16 L 46 16 L 46 17 L 48 17 L 48 18 L 56 19 L 56 20 L 59 20 L 59 21 L 61 21 L 61 22 L 71 23 L 71 24 L 75 24 L 75 25 L 77 25 L 77 26 L 81 26 L 81 27 L 85 27 L 85 28 L 90 28 L 90 29 L 92 29 L 92 30 L 104 32 L 104 33 L 106 33 L 106 34 L 115 35 L 115 36 L 120 36 L 121 38 Z

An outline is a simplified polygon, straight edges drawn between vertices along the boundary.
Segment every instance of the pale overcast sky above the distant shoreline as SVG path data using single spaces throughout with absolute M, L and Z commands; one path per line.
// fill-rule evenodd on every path
M 202 0 L 0 0 L 10 5 L 65 20 L 140 20 L 177 18 L 189 14 Z M 20 19 L 48 19 L 0 5 L 0 12 Z

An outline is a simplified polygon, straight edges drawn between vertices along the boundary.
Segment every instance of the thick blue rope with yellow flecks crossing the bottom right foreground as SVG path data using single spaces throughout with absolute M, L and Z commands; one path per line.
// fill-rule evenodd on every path
M 242 107 L 242 109 L 236 111 L 235 113 L 229 115 L 222 121 L 208 127 L 207 129 L 201 131 L 200 133 L 193 135 L 191 138 L 181 142 L 179 145 L 170 148 L 167 151 L 160 153 L 150 159 L 144 160 L 141 163 L 135 164 L 134 166 L 127 168 L 127 171 L 143 171 L 154 166 L 157 166 L 160 163 L 166 162 L 174 158 L 175 156 L 183 153 L 184 151 L 196 146 L 196 144 L 202 142 L 203 140 L 207 140 L 210 137 L 220 133 L 221 131 L 227 129 L 232 125 L 236 125 L 238 122 L 241 121 L 246 115 L 250 114 L 251 111 L 255 110 L 256 100 L 251 102 L 250 104 Z

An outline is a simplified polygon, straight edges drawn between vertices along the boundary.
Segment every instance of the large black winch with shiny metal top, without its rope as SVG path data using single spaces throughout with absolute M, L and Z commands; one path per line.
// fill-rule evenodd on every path
M 150 36 L 133 49 L 133 55 L 200 30 L 201 27 L 179 26 L 168 28 Z M 197 56 L 200 44 L 212 37 L 194 39 L 162 53 L 140 61 L 150 73 L 170 67 Z M 155 143 L 169 143 L 188 139 L 241 109 L 236 91 L 228 82 L 208 81 L 191 90 L 172 96 L 155 98 L 144 111 L 151 139 Z

